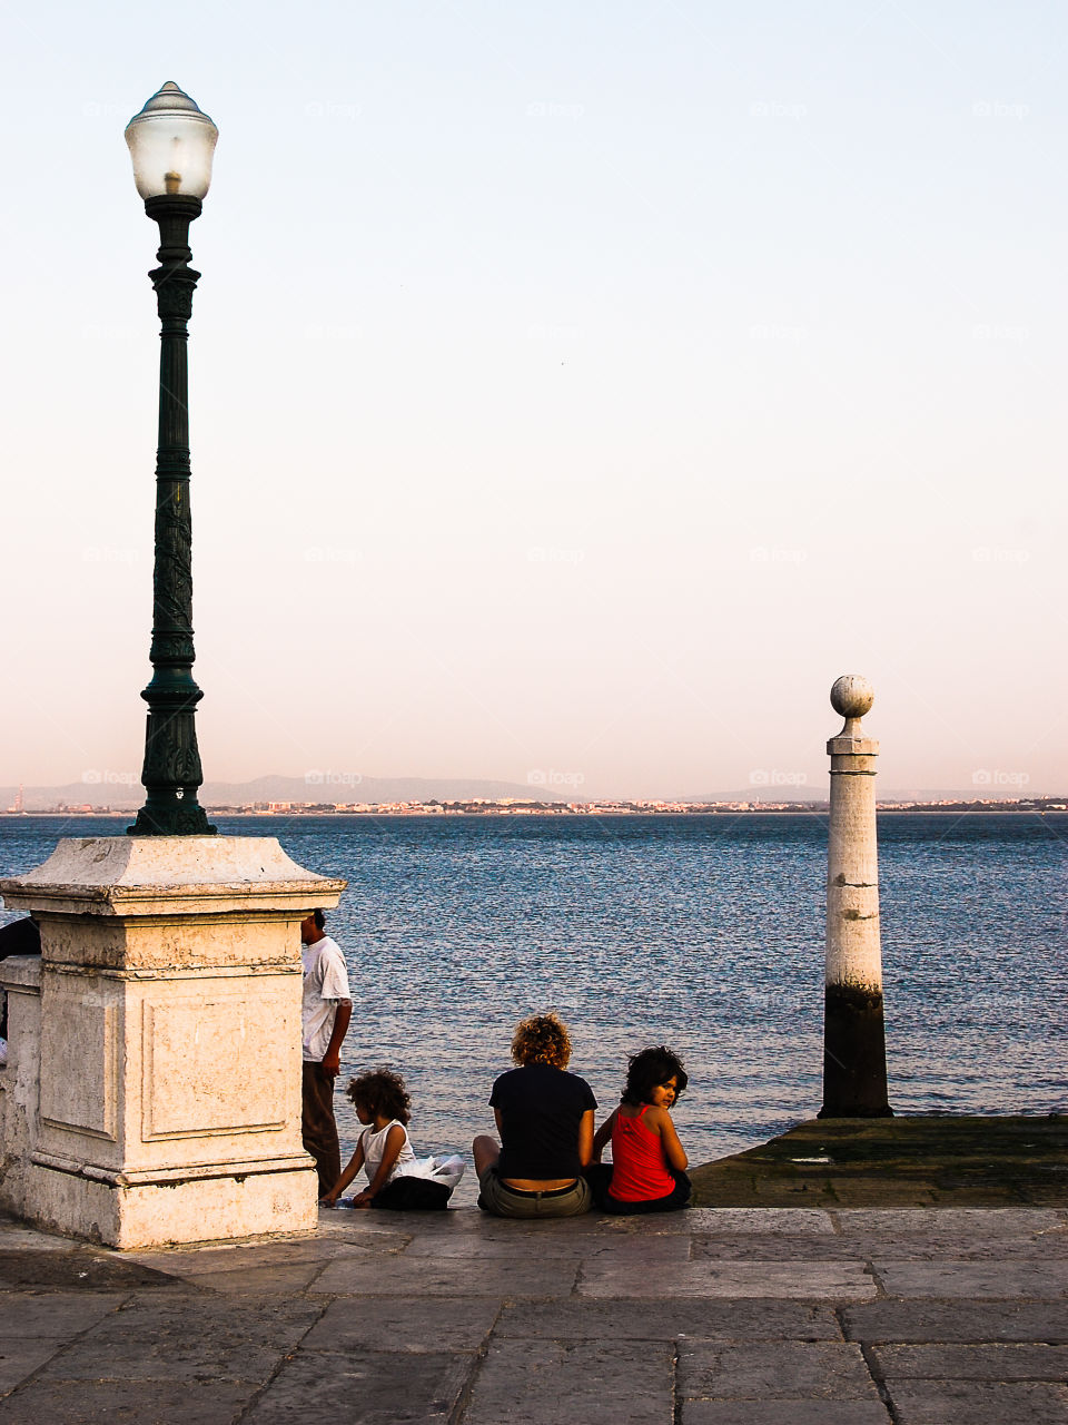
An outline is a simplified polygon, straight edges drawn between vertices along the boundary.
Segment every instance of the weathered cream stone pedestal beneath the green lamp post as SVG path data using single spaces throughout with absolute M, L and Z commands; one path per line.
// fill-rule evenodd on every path
M 343 889 L 259 836 L 63 841 L 0 882 L 41 928 L 38 1094 L 27 982 L 0 1206 L 125 1248 L 310 1231 L 299 923 Z

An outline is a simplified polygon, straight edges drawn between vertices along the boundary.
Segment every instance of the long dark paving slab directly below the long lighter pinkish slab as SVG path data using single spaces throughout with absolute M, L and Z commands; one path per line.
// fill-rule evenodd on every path
M 510 1301 L 496 1335 L 560 1341 L 839 1341 L 830 1307 L 800 1301 Z

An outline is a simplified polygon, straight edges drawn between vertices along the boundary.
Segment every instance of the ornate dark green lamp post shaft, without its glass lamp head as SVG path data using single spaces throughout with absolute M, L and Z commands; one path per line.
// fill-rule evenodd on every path
M 159 224 L 159 266 L 150 272 L 159 311 L 159 443 L 155 480 L 155 567 L 152 573 L 152 681 L 141 781 L 147 799 L 130 828 L 134 836 L 205 836 L 197 791 L 204 781 L 197 748 L 192 677 L 192 519 L 189 512 L 188 321 L 199 272 L 189 266 L 189 224 L 201 200 L 165 194 L 145 200 Z

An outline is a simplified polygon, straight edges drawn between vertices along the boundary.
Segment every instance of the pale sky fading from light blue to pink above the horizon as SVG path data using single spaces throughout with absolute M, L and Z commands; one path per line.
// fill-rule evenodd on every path
M 141 765 L 174 80 L 209 779 L 815 785 L 862 673 L 884 788 L 1068 791 L 1061 6 L 1 13 L 0 784 Z

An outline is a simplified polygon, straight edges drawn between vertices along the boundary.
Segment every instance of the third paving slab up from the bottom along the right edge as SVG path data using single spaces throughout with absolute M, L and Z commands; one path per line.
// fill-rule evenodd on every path
M 870 1301 L 842 1311 L 847 1341 L 1068 1342 L 1061 1301 Z

